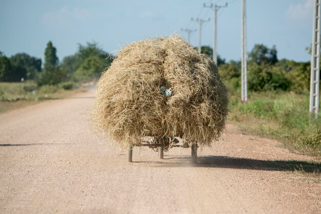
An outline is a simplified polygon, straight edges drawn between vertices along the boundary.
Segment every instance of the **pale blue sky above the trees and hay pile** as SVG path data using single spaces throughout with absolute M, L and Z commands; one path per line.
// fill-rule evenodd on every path
M 163 1 L 18 1 L 0 0 L 0 51 L 11 56 L 26 52 L 44 57 L 48 41 L 57 48 L 59 60 L 77 51 L 78 43 L 97 42 L 114 53 L 124 45 L 144 38 L 197 29 L 191 17 L 211 21 L 203 25 L 202 45 L 213 46 L 213 11 L 203 4 L 214 3 L 217 17 L 217 50 L 226 60 L 240 59 L 242 0 Z M 311 44 L 313 0 L 247 0 L 247 49 L 254 44 L 276 46 L 279 59 L 310 61 L 305 47 Z M 198 32 L 191 34 L 198 45 Z

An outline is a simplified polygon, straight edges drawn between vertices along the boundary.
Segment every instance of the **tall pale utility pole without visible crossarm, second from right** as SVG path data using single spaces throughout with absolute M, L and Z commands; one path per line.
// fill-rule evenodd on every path
M 247 57 L 246 57 L 246 0 L 242 0 L 242 70 L 241 70 L 241 100 L 248 100 Z

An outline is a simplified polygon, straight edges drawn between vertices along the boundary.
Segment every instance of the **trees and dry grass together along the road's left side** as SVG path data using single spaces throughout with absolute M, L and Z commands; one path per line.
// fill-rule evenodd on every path
M 7 57 L 0 52 L 0 113 L 81 91 L 83 83 L 98 79 L 113 59 L 97 43 L 79 44 L 62 62 L 56 51 L 49 41 L 43 66 L 27 53 Z

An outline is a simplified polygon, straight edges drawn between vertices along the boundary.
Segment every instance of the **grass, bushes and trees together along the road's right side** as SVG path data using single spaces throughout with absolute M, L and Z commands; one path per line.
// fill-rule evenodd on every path
M 309 114 L 309 62 L 277 60 L 275 47 L 255 45 L 249 53 L 247 102 L 240 101 L 240 62 L 223 63 L 219 72 L 229 89 L 230 122 L 321 157 L 321 116 Z

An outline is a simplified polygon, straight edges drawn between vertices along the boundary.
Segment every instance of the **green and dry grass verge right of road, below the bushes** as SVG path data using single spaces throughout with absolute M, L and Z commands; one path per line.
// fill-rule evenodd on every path
M 321 116 L 311 117 L 308 109 L 308 92 L 250 92 L 246 103 L 231 94 L 230 121 L 278 139 L 289 149 L 321 157 Z

